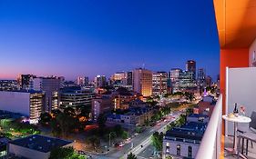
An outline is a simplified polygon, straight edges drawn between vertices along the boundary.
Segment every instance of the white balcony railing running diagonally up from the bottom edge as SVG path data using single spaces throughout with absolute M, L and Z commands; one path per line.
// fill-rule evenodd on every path
M 221 146 L 222 128 L 222 95 L 220 94 L 217 104 L 210 117 L 210 122 L 203 135 L 200 149 L 196 159 L 219 159 Z

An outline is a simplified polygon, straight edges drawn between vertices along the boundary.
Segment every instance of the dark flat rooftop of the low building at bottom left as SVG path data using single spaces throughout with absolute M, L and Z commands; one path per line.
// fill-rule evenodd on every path
M 17 139 L 10 142 L 10 144 L 23 146 L 43 153 L 48 153 L 54 148 L 62 147 L 71 143 L 73 142 L 38 134 L 27 136 L 25 138 Z

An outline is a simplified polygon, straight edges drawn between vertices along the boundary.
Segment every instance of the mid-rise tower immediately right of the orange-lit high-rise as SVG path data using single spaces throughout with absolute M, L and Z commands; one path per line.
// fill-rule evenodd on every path
M 167 94 L 167 79 L 168 79 L 168 74 L 166 72 L 153 73 L 153 79 L 152 79 L 153 95 Z

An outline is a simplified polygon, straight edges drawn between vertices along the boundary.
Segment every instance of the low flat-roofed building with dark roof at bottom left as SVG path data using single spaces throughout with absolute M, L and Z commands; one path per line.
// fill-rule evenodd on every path
M 48 159 L 52 150 L 73 147 L 73 142 L 34 134 L 11 141 L 7 147 L 8 154 L 14 155 L 14 158 Z

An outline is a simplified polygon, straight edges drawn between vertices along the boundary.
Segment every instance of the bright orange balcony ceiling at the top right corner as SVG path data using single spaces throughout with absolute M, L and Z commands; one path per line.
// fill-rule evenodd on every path
M 213 0 L 220 48 L 248 48 L 256 37 L 256 0 Z

